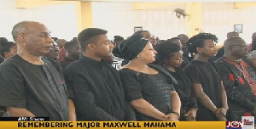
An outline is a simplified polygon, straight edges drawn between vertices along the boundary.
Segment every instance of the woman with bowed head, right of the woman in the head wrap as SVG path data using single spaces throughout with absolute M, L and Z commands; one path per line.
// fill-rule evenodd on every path
M 192 94 L 192 84 L 189 77 L 185 75 L 183 67 L 183 51 L 173 42 L 164 42 L 156 48 L 157 62 L 166 68 L 169 73 L 177 80 L 176 92 L 181 100 L 180 121 L 195 121 L 197 110 L 196 98 Z

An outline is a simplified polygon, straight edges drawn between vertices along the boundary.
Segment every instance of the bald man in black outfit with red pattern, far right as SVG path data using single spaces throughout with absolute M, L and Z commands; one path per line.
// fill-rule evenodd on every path
M 224 42 L 224 57 L 216 61 L 228 97 L 228 121 L 256 115 L 255 74 L 242 59 L 247 53 L 247 44 L 241 37 L 230 37 Z

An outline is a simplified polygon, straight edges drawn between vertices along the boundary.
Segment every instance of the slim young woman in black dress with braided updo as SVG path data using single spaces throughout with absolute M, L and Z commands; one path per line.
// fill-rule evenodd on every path
M 218 67 L 208 59 L 218 52 L 218 38 L 209 33 L 200 33 L 189 39 L 189 53 L 195 59 L 185 68 L 197 98 L 196 121 L 226 121 L 228 109 L 223 81 L 218 76 Z

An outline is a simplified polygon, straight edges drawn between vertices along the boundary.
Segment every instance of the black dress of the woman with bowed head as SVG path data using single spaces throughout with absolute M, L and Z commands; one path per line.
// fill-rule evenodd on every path
M 176 72 L 172 72 L 168 70 L 172 76 L 177 80 L 177 85 L 173 85 L 175 87 L 176 92 L 181 100 L 181 121 L 184 121 L 184 115 L 187 114 L 189 109 L 197 109 L 196 98 L 195 95 L 192 94 L 192 84 L 189 80 L 189 77 L 185 75 L 183 68 L 177 67 L 175 68 Z

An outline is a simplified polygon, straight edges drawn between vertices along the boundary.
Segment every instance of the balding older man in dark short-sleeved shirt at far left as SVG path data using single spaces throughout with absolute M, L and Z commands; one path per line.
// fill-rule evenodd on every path
M 0 107 L 9 116 L 68 121 L 67 87 L 54 60 L 43 59 L 53 40 L 45 25 L 22 21 L 12 35 L 18 51 L 0 65 Z

